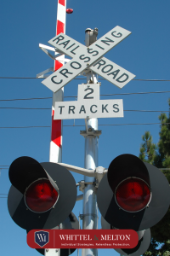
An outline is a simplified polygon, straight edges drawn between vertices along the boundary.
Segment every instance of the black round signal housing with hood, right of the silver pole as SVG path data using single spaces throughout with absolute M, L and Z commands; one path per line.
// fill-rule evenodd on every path
M 146 193 L 143 189 L 146 199 L 143 198 L 142 207 L 140 207 L 140 200 L 136 201 L 134 197 L 129 208 L 123 205 L 127 192 L 122 197 L 124 191 L 121 186 L 131 177 L 135 177 L 138 181 L 142 180 L 143 184 L 146 184 Z M 118 197 L 121 198 L 121 202 Z M 169 183 L 155 166 L 144 163 L 133 154 L 122 154 L 111 162 L 107 175 L 99 183 L 97 202 L 102 216 L 116 229 L 147 230 L 158 223 L 167 212 L 170 204 Z

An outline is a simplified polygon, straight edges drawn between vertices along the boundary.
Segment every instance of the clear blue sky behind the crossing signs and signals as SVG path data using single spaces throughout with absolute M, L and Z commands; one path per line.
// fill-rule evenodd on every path
M 136 75 L 135 79 L 170 79 L 169 9 L 168 0 L 157 1 L 73 1 L 67 0 L 67 8 L 74 9 L 66 15 L 66 34 L 84 44 L 85 29 L 98 27 L 98 38 L 115 26 L 122 26 L 132 34 L 105 55 L 109 60 Z M 1 60 L 0 77 L 35 78 L 54 61 L 45 55 L 38 44 L 48 44 L 55 36 L 57 1 L 3 1 L 0 8 Z M 99 78 L 100 79 L 100 78 Z M 123 94 L 169 91 L 169 82 L 133 80 L 122 90 L 105 81 L 100 94 Z M 65 96 L 77 96 L 77 85 L 85 80 L 74 79 L 65 85 Z M 168 111 L 169 93 L 101 96 L 100 99 L 122 99 L 125 110 Z M 50 126 L 51 110 L 24 110 L 6 108 L 51 108 L 52 100 L 3 101 L 52 97 L 41 79 L 0 79 L 0 197 L 6 197 L 10 188 L 8 170 L 12 161 L 20 156 L 31 156 L 39 162 L 48 161 L 50 127 L 2 128 L 20 126 Z M 65 98 L 65 101 L 75 100 Z M 160 112 L 161 113 L 161 112 Z M 150 131 L 154 143 L 158 142 L 160 125 L 122 125 L 158 123 L 158 112 L 124 112 L 124 118 L 99 119 L 99 166 L 107 168 L 119 154 L 139 156 L 141 137 Z M 73 125 L 65 120 L 64 125 Z M 117 125 L 116 125 L 117 124 Z M 84 138 L 80 136 L 84 119 L 76 119 L 75 126 L 63 129 L 63 162 L 84 166 Z M 102 126 L 103 125 L 103 126 Z M 5 167 L 4 167 L 5 168 Z M 8 167 L 7 167 L 8 168 Z M 73 176 L 76 182 L 81 175 Z M 78 191 L 79 194 L 79 191 Z M 0 244 L 2 255 L 37 255 L 26 244 L 26 230 L 20 229 L 8 214 L 7 199 L 0 198 Z M 82 213 L 82 201 L 73 212 Z M 100 220 L 99 220 L 100 221 Z M 114 250 L 99 250 L 99 255 L 118 255 Z M 73 253 L 72 255 L 77 255 Z

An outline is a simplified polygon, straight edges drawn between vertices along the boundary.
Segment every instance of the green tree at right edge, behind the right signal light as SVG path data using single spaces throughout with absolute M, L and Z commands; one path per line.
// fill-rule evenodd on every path
M 170 107 L 170 99 L 168 104 Z M 157 168 L 170 168 L 170 116 L 167 117 L 166 113 L 161 113 L 159 119 L 161 121 L 159 142 L 157 145 L 153 143 L 150 131 L 145 131 L 139 158 Z M 170 171 L 161 170 L 161 172 L 164 173 L 170 183 Z M 170 255 L 170 208 L 164 218 L 150 230 L 152 239 L 150 247 L 144 255 Z

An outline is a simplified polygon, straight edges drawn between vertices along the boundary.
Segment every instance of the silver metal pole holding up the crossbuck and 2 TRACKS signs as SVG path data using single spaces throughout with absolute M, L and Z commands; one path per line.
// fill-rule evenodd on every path
M 97 83 L 97 75 L 88 73 L 87 84 L 89 81 Z M 93 84 L 92 84 L 93 87 Z M 88 119 L 87 126 L 90 131 L 98 130 L 98 119 Z M 88 132 L 88 131 L 87 131 Z M 88 135 L 85 137 L 85 158 L 84 167 L 94 170 L 98 166 L 98 137 Z M 84 176 L 85 188 L 83 189 L 83 210 L 82 210 L 82 229 L 95 230 L 98 227 L 96 188 L 94 185 L 95 177 Z M 97 256 L 98 249 L 82 249 L 82 256 Z

